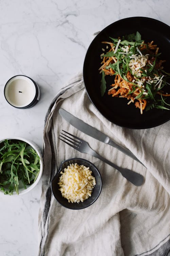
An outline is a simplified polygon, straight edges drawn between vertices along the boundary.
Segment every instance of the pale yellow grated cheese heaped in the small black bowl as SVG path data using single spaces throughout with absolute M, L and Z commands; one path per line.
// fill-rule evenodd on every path
M 68 202 L 79 203 L 91 197 L 92 190 L 96 185 L 96 179 L 92 176 L 89 167 L 79 165 L 78 163 L 70 163 L 58 180 L 59 190 L 62 197 Z

